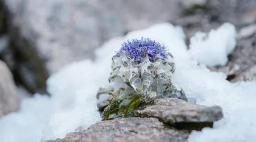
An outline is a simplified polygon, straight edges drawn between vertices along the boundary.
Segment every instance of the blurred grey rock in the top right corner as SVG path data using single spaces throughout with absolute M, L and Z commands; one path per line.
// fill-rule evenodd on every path
M 208 0 L 205 5 L 195 6 L 192 9 L 184 10 L 184 15 L 204 15 L 211 22 L 229 22 L 236 26 L 253 23 L 254 15 L 248 15 L 255 10 L 255 0 Z M 205 21 L 198 21 L 204 23 Z

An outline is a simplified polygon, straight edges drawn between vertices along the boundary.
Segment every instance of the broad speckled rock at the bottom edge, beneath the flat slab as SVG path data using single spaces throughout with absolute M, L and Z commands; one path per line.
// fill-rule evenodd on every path
M 82 132 L 48 142 L 96 141 L 187 141 L 187 130 L 168 129 L 157 118 L 116 118 L 94 124 Z

